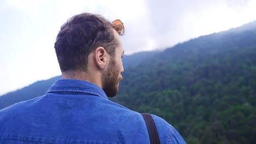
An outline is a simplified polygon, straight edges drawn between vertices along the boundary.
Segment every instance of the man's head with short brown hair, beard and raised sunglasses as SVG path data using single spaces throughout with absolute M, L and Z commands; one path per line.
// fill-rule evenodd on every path
M 123 23 L 120 25 L 123 27 Z M 108 97 L 117 95 L 124 71 L 120 25 L 89 13 L 75 15 L 64 23 L 55 42 L 62 77 L 67 72 L 79 74 L 66 77 L 93 82 L 102 87 Z

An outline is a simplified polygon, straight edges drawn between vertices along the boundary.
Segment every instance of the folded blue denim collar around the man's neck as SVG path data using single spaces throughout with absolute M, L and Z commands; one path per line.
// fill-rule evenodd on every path
M 55 81 L 46 93 L 51 92 L 77 92 L 97 95 L 98 97 L 108 99 L 103 89 L 94 83 L 75 79 L 61 79 Z

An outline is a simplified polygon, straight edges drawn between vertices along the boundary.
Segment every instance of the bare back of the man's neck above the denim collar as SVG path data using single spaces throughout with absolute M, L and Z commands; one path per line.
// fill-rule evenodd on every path
M 101 79 L 98 79 L 98 77 L 100 76 L 97 74 L 94 74 L 94 76 L 92 76 L 88 72 L 77 71 L 77 70 L 63 71 L 61 76 L 62 79 L 77 79 L 77 80 L 89 81 L 91 83 L 94 83 L 98 87 L 102 88 Z

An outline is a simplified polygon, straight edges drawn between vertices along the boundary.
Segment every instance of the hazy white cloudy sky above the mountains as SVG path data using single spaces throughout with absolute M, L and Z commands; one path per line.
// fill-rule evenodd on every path
M 131 54 L 256 20 L 256 1 L 1 0 L 0 95 L 61 75 L 56 35 L 69 17 L 83 12 L 122 20 L 125 53 Z

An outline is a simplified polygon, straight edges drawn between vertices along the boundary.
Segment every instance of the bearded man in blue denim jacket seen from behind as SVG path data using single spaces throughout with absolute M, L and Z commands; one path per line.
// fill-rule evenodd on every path
M 89 13 L 62 25 L 55 51 L 62 72 L 42 97 L 0 110 L 0 143 L 150 143 L 142 115 L 108 99 L 124 72 L 120 20 Z M 161 143 L 185 143 L 152 115 Z

